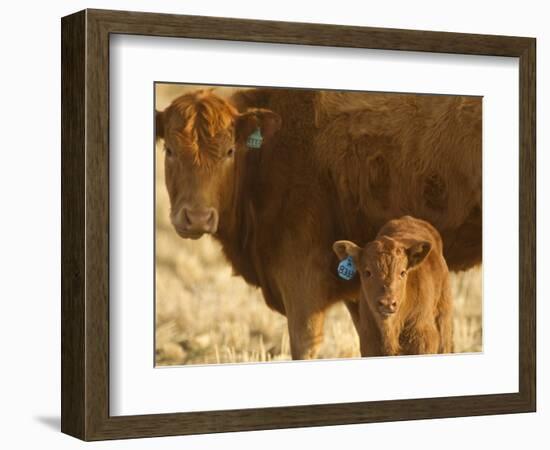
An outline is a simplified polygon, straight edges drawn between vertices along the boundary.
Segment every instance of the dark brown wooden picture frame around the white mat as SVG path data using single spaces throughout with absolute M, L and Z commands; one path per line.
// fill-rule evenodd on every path
M 531 412 L 536 408 L 534 38 L 85 10 L 62 31 L 61 429 L 84 440 Z M 519 58 L 519 392 L 109 415 L 109 36 Z

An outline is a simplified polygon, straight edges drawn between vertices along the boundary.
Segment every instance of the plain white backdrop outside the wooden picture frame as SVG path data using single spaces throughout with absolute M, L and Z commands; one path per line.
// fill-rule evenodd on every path
M 550 49 L 544 2 L 391 2 L 340 0 L 278 2 L 52 1 L 4 5 L 0 17 L 3 102 L 2 295 L 3 350 L 0 440 L 7 448 L 74 448 L 84 444 L 59 429 L 60 264 L 60 33 L 59 17 L 84 7 L 436 29 L 538 38 L 538 410 L 537 414 L 351 425 L 214 436 L 143 439 L 94 444 L 101 448 L 545 448 L 550 395 L 544 379 L 547 340 L 548 256 L 543 230 L 548 204 L 548 78 Z M 16 6 L 17 5 L 17 6 Z M 260 6 L 261 5 L 261 6 Z M 545 154 L 546 153 L 546 154 Z M 505 244 L 504 244 L 505 245 Z M 503 250 L 505 254 L 505 248 Z M 546 329 L 545 329 L 546 327 Z M 115 447 L 116 446 L 116 447 Z

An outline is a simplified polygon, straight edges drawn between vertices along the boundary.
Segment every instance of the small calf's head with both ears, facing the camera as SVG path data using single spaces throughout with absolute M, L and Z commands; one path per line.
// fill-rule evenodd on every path
M 333 250 L 340 259 L 353 258 L 361 279 L 361 301 L 382 319 L 391 317 L 405 298 L 407 277 L 431 250 L 427 241 L 402 243 L 381 237 L 361 248 L 351 241 L 336 241 Z

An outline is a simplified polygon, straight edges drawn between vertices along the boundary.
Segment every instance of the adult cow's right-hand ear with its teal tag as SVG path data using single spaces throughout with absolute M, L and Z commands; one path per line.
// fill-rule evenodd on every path
M 235 140 L 241 146 L 264 148 L 280 130 L 282 119 L 269 109 L 249 109 L 235 122 Z

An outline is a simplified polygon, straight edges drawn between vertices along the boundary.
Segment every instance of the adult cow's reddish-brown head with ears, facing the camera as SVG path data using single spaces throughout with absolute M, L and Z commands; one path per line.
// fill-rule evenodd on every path
M 216 233 L 220 215 L 231 208 L 236 166 L 246 152 L 269 145 L 281 118 L 265 109 L 238 113 L 211 90 L 182 95 L 155 115 L 172 225 L 183 238 Z M 262 147 L 249 149 L 247 141 L 258 130 Z

